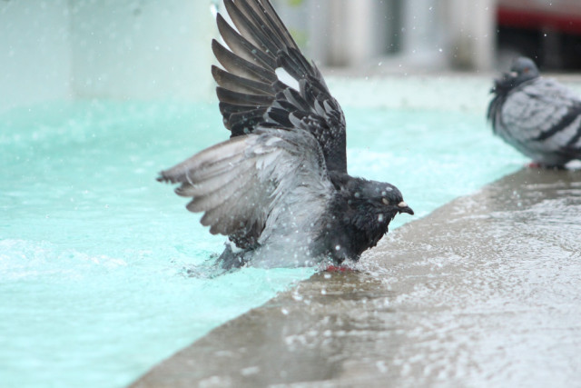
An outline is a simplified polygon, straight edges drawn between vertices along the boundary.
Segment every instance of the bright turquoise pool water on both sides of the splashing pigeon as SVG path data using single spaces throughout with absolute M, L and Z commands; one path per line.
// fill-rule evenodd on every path
M 483 114 L 346 108 L 350 174 L 416 216 L 525 159 Z M 312 269 L 215 276 L 223 238 L 156 173 L 227 138 L 214 104 L 53 104 L 0 116 L 0 385 L 119 387 Z

